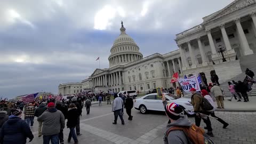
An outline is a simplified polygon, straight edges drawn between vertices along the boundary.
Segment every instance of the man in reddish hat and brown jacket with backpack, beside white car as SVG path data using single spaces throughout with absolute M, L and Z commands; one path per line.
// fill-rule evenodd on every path
M 194 111 L 196 113 L 196 116 L 195 116 L 196 126 L 200 127 L 201 119 L 203 119 L 204 123 L 207 126 L 207 130 L 208 130 L 208 132 L 206 134 L 208 134 L 210 137 L 213 137 L 210 118 L 207 116 L 204 116 L 204 115 L 210 115 L 211 112 L 204 111 L 201 108 L 201 102 L 202 102 L 201 93 L 197 92 L 195 88 L 192 88 L 189 91 L 192 93 L 191 104 L 193 105 Z M 204 114 L 204 115 L 202 115 L 202 114 Z

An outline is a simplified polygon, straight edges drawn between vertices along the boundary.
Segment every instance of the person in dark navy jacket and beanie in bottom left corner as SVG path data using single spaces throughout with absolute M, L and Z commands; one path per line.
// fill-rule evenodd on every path
M 28 124 L 20 118 L 21 114 L 18 109 L 11 110 L 11 116 L 1 129 L 0 143 L 25 144 L 27 138 L 29 142 L 34 139 Z

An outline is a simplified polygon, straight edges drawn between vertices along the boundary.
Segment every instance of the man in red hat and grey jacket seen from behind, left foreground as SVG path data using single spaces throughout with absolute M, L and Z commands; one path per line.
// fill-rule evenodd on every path
M 42 135 L 43 144 L 59 144 L 59 133 L 65 127 L 65 117 L 60 110 L 55 108 L 53 102 L 49 102 L 47 110 L 37 118 L 43 122 Z

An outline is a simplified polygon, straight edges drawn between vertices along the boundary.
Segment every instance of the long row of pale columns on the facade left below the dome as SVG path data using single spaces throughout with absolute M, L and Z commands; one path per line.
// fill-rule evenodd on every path
M 114 85 L 122 85 L 123 79 L 124 78 L 123 78 L 122 71 L 116 71 L 111 74 L 101 75 L 101 76 L 92 78 L 92 80 L 89 83 L 91 88 L 96 86 L 114 86 Z

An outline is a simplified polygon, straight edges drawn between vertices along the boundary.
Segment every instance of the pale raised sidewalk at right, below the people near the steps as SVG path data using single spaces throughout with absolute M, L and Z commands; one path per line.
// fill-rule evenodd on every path
M 225 109 L 217 109 L 216 111 L 236 111 L 236 112 L 256 112 L 256 97 L 249 96 L 249 102 L 243 102 L 235 100 L 229 101 L 230 97 L 224 97 L 224 106 Z M 215 102 L 216 106 L 217 103 Z

